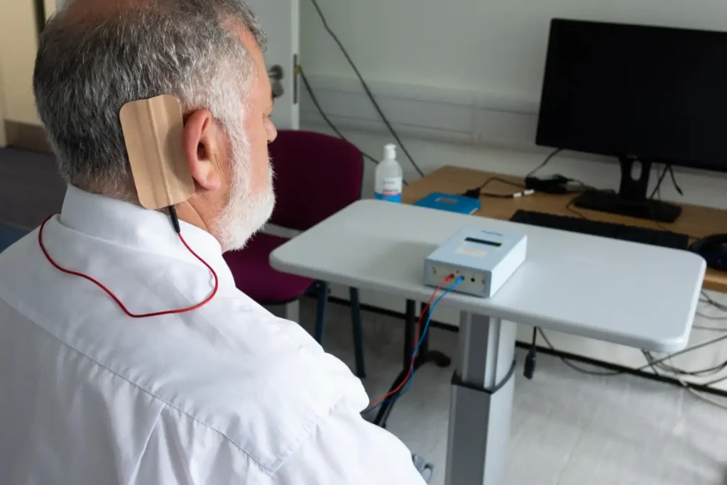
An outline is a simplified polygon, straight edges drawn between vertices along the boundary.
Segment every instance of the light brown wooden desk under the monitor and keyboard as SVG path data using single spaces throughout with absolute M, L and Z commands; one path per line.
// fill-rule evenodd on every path
M 467 189 L 478 187 L 478 185 L 481 185 L 490 177 L 500 177 L 515 183 L 523 182 L 521 177 L 448 166 L 442 167 L 404 188 L 402 201 L 405 204 L 414 204 L 414 202 L 432 192 L 463 193 Z M 486 193 L 507 194 L 516 192 L 517 189 L 511 185 L 493 181 L 483 191 Z M 475 215 L 509 220 L 510 217 L 513 217 L 515 211 L 523 209 L 577 217 L 574 212 L 568 209 L 569 202 L 575 196 L 574 194 L 550 195 L 536 193 L 532 196 L 521 197 L 519 199 L 481 197 L 482 209 L 475 212 Z M 649 220 L 607 214 L 605 212 L 595 212 L 587 209 L 576 210 L 592 220 L 636 225 L 644 228 L 667 229 L 676 233 L 685 233 L 696 238 L 716 233 L 727 233 L 726 210 L 710 209 L 709 207 L 687 204 L 681 204 L 681 207 L 683 208 L 682 215 L 673 224 L 657 224 Z M 727 272 L 707 269 L 707 274 L 704 276 L 704 288 L 727 293 Z

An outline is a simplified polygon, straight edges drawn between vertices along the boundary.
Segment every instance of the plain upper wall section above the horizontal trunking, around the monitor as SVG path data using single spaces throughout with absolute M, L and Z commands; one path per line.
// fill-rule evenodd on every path
M 467 89 L 537 102 L 552 17 L 726 27 L 722 0 L 318 0 L 371 81 Z M 351 78 L 301 1 L 303 62 L 311 73 Z

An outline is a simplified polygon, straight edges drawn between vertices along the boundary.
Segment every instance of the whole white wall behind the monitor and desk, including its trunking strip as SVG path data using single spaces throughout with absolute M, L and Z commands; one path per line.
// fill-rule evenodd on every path
M 548 151 L 534 145 L 534 133 L 551 17 L 727 30 L 723 0 L 318 2 L 425 172 L 451 164 L 525 175 L 542 161 Z M 391 137 L 310 0 L 301 0 L 301 62 L 333 121 L 378 158 Z M 330 132 L 305 93 L 301 124 L 304 129 Z M 403 154 L 400 161 L 405 177 L 416 179 Z M 367 162 L 366 167 L 365 196 L 372 192 L 373 165 Z M 617 188 L 619 180 L 614 161 L 583 154 L 565 153 L 543 173 L 547 172 L 561 172 L 603 188 Z M 685 195 L 680 197 L 667 183 L 664 199 L 727 209 L 725 175 L 677 172 Z M 346 296 L 344 289 L 333 291 L 338 297 Z M 403 311 L 403 301 L 385 294 L 362 294 L 362 300 Z M 458 322 L 446 310 L 438 311 L 435 318 Z M 696 323 L 714 324 L 700 319 Z M 520 337 L 528 339 L 529 330 L 523 327 Z M 695 332 L 694 339 L 702 337 Z M 552 340 L 562 350 L 623 365 L 643 364 L 637 350 L 566 335 Z M 702 353 L 695 358 L 718 356 Z

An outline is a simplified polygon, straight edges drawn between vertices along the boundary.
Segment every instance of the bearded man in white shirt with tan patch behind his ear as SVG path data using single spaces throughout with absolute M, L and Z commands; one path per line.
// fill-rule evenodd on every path
M 238 0 L 73 0 L 47 25 L 33 87 L 68 193 L 0 257 L 2 484 L 422 483 L 361 419 L 361 382 L 222 260 L 273 209 L 264 47 Z M 216 294 L 138 203 L 119 110 L 163 94 L 194 180 L 181 234 Z

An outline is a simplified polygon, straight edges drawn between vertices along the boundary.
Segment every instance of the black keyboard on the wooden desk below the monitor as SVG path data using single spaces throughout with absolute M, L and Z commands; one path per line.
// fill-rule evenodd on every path
M 591 234 L 622 241 L 640 242 L 652 246 L 663 246 L 674 249 L 687 249 L 689 236 L 686 234 L 659 231 L 656 229 L 637 228 L 632 225 L 601 223 L 579 217 L 552 215 L 545 212 L 518 210 L 510 219 L 513 223 L 537 225 L 541 228 L 560 229 L 571 233 Z

